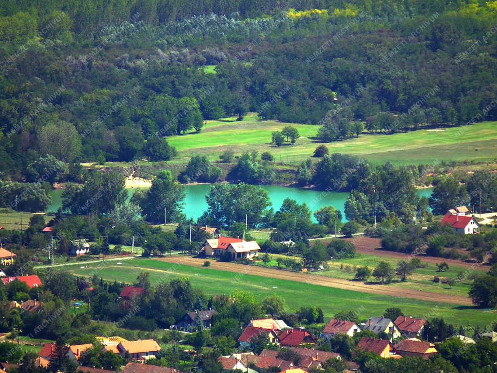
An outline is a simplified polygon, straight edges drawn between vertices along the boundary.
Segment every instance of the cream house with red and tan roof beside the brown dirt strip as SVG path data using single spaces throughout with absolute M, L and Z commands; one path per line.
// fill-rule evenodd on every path
M 232 259 L 253 259 L 259 255 L 260 247 L 255 241 L 219 236 L 205 240 L 202 250 L 207 257 L 220 258 L 229 254 Z

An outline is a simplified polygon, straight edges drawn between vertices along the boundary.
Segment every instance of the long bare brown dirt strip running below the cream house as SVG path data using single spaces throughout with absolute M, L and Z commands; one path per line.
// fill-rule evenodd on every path
M 168 263 L 183 264 L 186 266 L 193 266 L 193 267 L 201 267 L 202 264 L 204 263 L 203 259 L 195 259 L 190 257 L 177 257 L 177 256 L 160 258 L 156 260 Z M 271 268 L 263 268 L 256 266 L 246 266 L 236 263 L 225 263 L 225 262 L 214 262 L 214 261 L 210 261 L 210 263 L 211 265 L 209 268 L 220 271 L 245 273 L 248 275 L 269 277 L 272 279 L 305 282 L 313 285 L 328 286 L 338 289 L 360 291 L 370 294 L 391 295 L 403 298 L 413 298 L 413 299 L 427 300 L 431 302 L 445 302 L 445 303 L 454 303 L 462 305 L 472 304 L 470 298 L 457 296 L 457 295 L 430 293 L 430 292 L 411 290 L 411 289 L 399 289 L 388 285 L 365 284 L 363 282 L 325 278 L 316 275 L 288 272 L 288 271 L 275 270 Z

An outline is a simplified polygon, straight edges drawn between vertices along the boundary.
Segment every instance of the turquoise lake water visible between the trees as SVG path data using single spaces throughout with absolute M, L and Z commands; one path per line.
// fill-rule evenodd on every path
M 185 186 L 185 200 L 183 212 L 186 216 L 192 217 L 196 220 L 202 213 L 207 210 L 207 202 L 205 196 L 209 192 L 209 185 L 188 185 Z M 319 210 L 323 206 L 333 206 L 342 212 L 343 219 L 345 213 L 343 206 L 347 199 L 348 193 L 344 192 L 331 192 L 331 191 L 317 191 L 309 189 L 279 187 L 279 186 L 260 186 L 269 192 L 269 199 L 271 200 L 274 210 L 278 210 L 285 198 L 295 199 L 298 203 L 306 202 L 311 211 Z M 136 189 L 127 189 L 129 198 L 133 195 Z M 419 189 L 420 196 L 429 196 L 432 189 Z M 62 206 L 62 190 L 52 190 L 53 202 L 48 206 L 46 212 L 55 212 Z

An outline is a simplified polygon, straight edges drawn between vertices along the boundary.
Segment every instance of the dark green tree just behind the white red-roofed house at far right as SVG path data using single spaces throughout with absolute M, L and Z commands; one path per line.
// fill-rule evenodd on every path
M 468 204 L 469 195 L 466 187 L 459 185 L 453 177 L 436 181 L 431 196 L 428 198 L 434 215 L 443 215 L 448 209 Z

